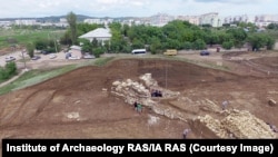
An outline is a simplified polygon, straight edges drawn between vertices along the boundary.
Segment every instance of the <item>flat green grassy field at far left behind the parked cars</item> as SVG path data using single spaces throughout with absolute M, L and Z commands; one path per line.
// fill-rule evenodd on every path
M 24 46 L 38 39 L 60 39 L 64 30 L 0 29 L 0 49 L 12 45 Z

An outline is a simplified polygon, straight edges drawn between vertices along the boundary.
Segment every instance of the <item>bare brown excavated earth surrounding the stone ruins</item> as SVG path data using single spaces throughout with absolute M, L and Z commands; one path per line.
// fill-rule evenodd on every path
M 251 60 L 277 69 L 278 58 Z M 227 65 L 248 66 L 238 61 Z M 237 65 L 237 66 L 235 66 Z M 232 68 L 231 68 L 232 69 Z M 111 95 L 116 80 L 151 73 L 160 87 L 181 94 L 180 99 L 159 104 L 179 110 L 187 120 L 171 119 L 145 108 L 142 114 Z M 241 72 L 242 73 L 242 72 Z M 167 76 L 167 77 L 166 77 Z M 139 81 L 139 80 L 138 80 Z M 206 108 L 214 102 L 221 108 L 249 110 L 256 117 L 278 126 L 278 76 L 254 69 L 237 75 L 202 68 L 183 61 L 162 59 L 122 59 L 106 67 L 85 67 L 42 84 L 0 96 L 0 138 L 182 138 L 189 120 L 198 116 L 220 117 Z M 214 138 L 209 133 L 192 131 L 188 138 Z

